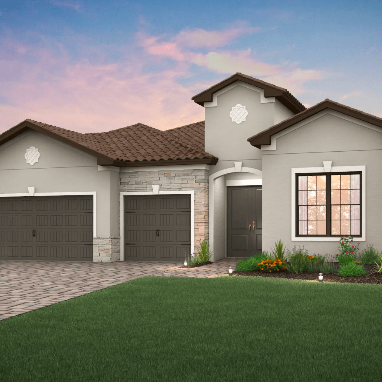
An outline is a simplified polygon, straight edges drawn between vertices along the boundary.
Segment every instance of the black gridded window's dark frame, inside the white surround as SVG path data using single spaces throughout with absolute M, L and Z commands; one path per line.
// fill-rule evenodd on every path
M 331 189 L 331 179 L 330 177 L 332 175 L 359 175 L 359 235 L 351 235 L 354 238 L 361 238 L 362 237 L 362 211 L 363 211 L 363 206 L 362 206 L 362 172 L 361 171 L 333 171 L 333 172 L 319 172 L 319 173 L 296 173 L 295 174 L 295 233 L 296 237 L 299 238 L 311 238 L 311 237 L 335 237 L 335 238 L 340 238 L 344 235 L 332 235 L 332 189 Z M 299 176 L 322 176 L 325 175 L 326 177 L 326 235 L 300 235 L 298 233 L 299 231 L 299 204 L 298 204 L 298 177 Z M 329 177 L 329 178 L 328 178 Z M 329 186 L 328 186 L 329 185 Z M 329 234 L 328 234 L 329 232 Z M 345 236 L 348 236 L 345 234 Z

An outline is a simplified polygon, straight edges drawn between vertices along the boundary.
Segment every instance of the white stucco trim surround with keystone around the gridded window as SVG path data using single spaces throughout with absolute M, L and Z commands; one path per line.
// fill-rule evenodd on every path
M 308 236 L 297 236 L 296 235 L 296 174 L 317 174 L 317 175 L 323 175 L 325 173 L 337 173 L 337 172 L 343 172 L 343 173 L 351 173 L 351 172 L 361 172 L 361 179 L 362 179 L 362 186 L 360 188 L 360 198 L 361 198 L 361 224 L 360 224 L 360 230 L 362 233 L 361 237 L 357 237 L 357 241 L 366 241 L 366 166 L 365 165 L 354 165 L 354 166 L 333 166 L 332 167 L 332 161 L 324 161 L 321 162 L 324 166 L 322 167 L 292 167 L 290 176 L 291 176 L 291 183 L 290 183 L 290 189 L 291 194 L 290 195 L 290 206 L 291 206 L 291 225 L 290 225 L 290 232 L 291 232 L 291 241 L 338 241 L 338 236 L 323 236 L 323 237 L 317 237 L 316 235 L 308 235 Z M 298 191 L 298 189 L 297 189 Z M 362 196 L 361 196 L 362 195 Z M 298 215 L 297 215 L 298 217 Z M 298 232 L 298 231 L 297 231 Z

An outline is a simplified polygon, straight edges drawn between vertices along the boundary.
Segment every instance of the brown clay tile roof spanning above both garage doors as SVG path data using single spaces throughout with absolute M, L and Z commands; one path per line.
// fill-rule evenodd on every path
M 100 154 L 113 165 L 128 166 L 129 163 L 185 161 L 186 163 L 216 164 L 217 158 L 204 151 L 204 121 L 191 123 L 166 131 L 154 129 L 142 123 L 126 126 L 104 133 L 81 134 L 76 131 L 27 119 L 0 135 L 0 144 L 11 139 L 13 129 L 37 126 L 38 131 L 63 138 L 84 151 Z M 32 126 L 30 125 L 32 124 Z M 8 136 L 7 136 L 8 135 Z M 2 139 L 3 138 L 3 139 Z M 61 139 L 62 140 L 62 139 Z M 137 163 L 138 162 L 138 163 Z M 105 164 L 105 163 L 102 163 Z M 108 163 L 111 164 L 111 163 Z M 150 163 L 151 164 L 151 163 Z M 162 164 L 162 163 L 152 163 Z M 168 163 L 163 163 L 168 164 Z

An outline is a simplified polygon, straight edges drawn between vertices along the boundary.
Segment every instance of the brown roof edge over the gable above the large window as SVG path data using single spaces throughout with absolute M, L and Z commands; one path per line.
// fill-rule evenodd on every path
M 309 107 L 303 112 L 293 115 L 293 117 L 287 118 L 286 120 L 283 120 L 277 125 L 274 125 L 248 138 L 247 141 L 250 142 L 252 146 L 261 149 L 261 145 L 271 144 L 272 135 L 277 134 L 280 131 L 285 130 L 286 128 L 293 126 L 296 123 L 301 122 L 306 118 L 309 118 L 312 115 L 317 114 L 325 109 L 335 110 L 345 115 L 349 115 L 350 117 L 357 118 L 361 121 L 365 121 L 371 123 L 372 125 L 376 125 L 382 128 L 382 118 L 376 117 L 375 115 L 365 113 L 361 110 L 354 109 L 350 106 L 346 106 L 338 102 L 332 101 L 329 98 L 326 98 L 325 100 L 319 102 L 318 104 L 312 107 Z

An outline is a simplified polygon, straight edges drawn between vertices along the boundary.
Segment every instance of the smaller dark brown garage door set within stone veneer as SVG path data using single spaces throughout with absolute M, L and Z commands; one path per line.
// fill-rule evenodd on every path
M 125 260 L 182 261 L 190 255 L 190 195 L 125 198 Z

